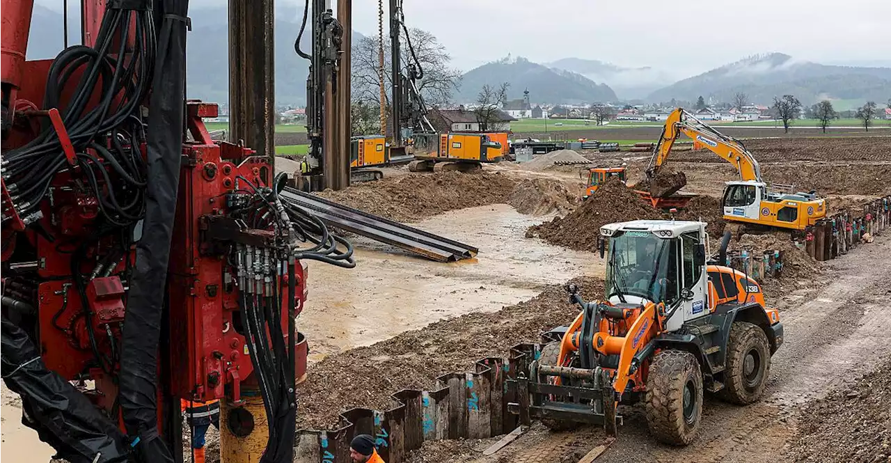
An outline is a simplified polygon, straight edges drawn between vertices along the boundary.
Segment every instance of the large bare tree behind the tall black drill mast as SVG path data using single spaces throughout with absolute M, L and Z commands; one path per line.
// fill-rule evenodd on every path
M 446 105 L 452 101 L 452 95 L 461 82 L 461 71 L 450 66 L 452 57 L 446 52 L 446 47 L 440 44 L 433 34 L 419 28 L 410 28 L 409 36 L 414 54 L 421 64 L 421 70 L 423 70 L 423 77 L 418 83 L 418 89 L 421 91 L 424 101 L 431 106 Z M 411 50 L 405 42 L 405 34 L 400 37 L 404 44 L 402 60 L 403 69 L 405 69 L 410 62 L 413 62 L 413 59 Z M 389 70 L 392 57 L 390 56 L 389 39 L 387 38 L 385 41 L 384 86 L 387 91 L 387 101 L 384 104 L 389 105 L 393 85 Z M 354 102 L 364 102 L 380 108 L 379 42 L 378 37 L 364 37 L 353 46 L 352 93 Z

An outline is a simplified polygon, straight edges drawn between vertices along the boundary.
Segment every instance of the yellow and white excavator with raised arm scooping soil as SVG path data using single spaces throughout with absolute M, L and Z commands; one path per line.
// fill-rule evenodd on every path
M 726 183 L 722 201 L 724 220 L 768 228 L 805 230 L 826 217 L 826 200 L 818 198 L 815 191 L 793 192 L 791 186 L 779 184 L 773 184 L 768 189 L 758 161 L 740 140 L 707 126 L 683 108 L 674 110 L 668 117 L 653 150 L 647 169 L 651 181 L 658 178 L 674 142 L 682 134 L 731 163 L 740 173 L 739 181 Z M 674 191 L 683 184 L 675 187 Z

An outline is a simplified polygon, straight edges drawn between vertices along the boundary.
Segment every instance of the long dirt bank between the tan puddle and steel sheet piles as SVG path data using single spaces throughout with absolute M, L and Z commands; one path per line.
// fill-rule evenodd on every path
M 602 296 L 602 280 L 585 277 L 572 282 L 586 300 Z M 480 287 L 479 291 L 486 288 Z M 470 313 L 407 331 L 368 347 L 359 347 L 310 366 L 298 388 L 298 428 L 327 428 L 340 412 L 354 407 L 388 409 L 390 394 L 405 388 L 429 388 L 436 378 L 466 371 L 474 361 L 507 355 L 519 343 L 571 322 L 578 307 L 568 303 L 564 285 L 553 285 L 539 296 L 495 313 Z

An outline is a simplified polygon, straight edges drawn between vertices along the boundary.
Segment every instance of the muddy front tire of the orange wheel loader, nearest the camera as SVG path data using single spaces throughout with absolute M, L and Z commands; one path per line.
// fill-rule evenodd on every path
M 646 394 L 650 434 L 670 445 L 687 445 L 702 420 L 702 372 L 689 352 L 666 350 L 650 362 Z

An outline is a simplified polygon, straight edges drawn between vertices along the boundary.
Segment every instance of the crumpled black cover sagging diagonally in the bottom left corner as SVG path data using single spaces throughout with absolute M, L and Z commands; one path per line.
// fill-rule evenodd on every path
M 0 377 L 21 396 L 22 422 L 71 463 L 127 459 L 127 443 L 115 424 L 84 394 L 46 368 L 28 334 L 0 314 Z M 3 459 L 0 457 L 0 459 Z

